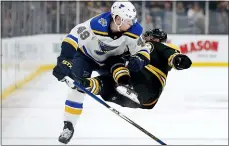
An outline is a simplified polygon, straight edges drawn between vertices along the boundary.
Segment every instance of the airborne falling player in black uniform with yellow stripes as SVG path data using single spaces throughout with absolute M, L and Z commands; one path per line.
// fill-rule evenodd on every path
M 139 43 L 152 46 L 150 64 L 141 71 L 131 71 L 130 76 L 122 75 L 122 67 L 119 67 L 128 55 L 109 58 L 106 67 L 110 68 L 111 74 L 96 77 L 100 81 L 99 95 L 105 101 L 123 107 L 152 109 L 163 92 L 168 72 L 172 68 L 188 69 L 192 64 L 188 56 L 181 54 L 177 46 L 166 44 L 166 40 L 167 34 L 161 29 L 146 31 Z M 87 84 L 83 82 L 82 85 L 87 87 Z

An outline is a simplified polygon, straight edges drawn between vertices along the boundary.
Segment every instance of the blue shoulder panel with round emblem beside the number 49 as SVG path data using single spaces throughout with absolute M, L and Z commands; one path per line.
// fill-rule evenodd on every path
M 111 22 L 111 13 L 103 13 L 91 19 L 90 26 L 96 35 L 108 36 L 108 27 Z

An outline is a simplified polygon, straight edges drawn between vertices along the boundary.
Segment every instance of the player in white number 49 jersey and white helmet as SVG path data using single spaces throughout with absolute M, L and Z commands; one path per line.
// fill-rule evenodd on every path
M 131 2 L 117 1 L 111 12 L 95 16 L 78 24 L 66 36 L 61 45 L 61 54 L 53 75 L 58 81 L 67 82 L 64 77 L 90 78 L 92 71 L 99 69 L 110 56 L 128 51 L 132 55 L 126 66 L 116 65 L 111 69 L 114 80 L 125 84 L 129 70 L 139 71 L 150 62 L 149 46 L 138 45 L 142 27 L 136 19 L 136 9 Z M 128 50 L 127 50 L 127 49 Z M 99 94 L 100 84 L 96 78 L 88 79 L 90 90 Z M 83 110 L 85 94 L 72 87 L 65 102 L 64 128 L 59 137 L 67 144 L 74 133 L 74 126 Z

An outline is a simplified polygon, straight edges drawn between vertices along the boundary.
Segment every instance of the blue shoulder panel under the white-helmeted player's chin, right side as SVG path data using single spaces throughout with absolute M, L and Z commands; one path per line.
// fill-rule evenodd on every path
M 137 39 L 142 34 L 142 31 L 142 26 L 137 22 L 127 32 L 125 32 L 124 35 L 129 36 L 133 39 Z

